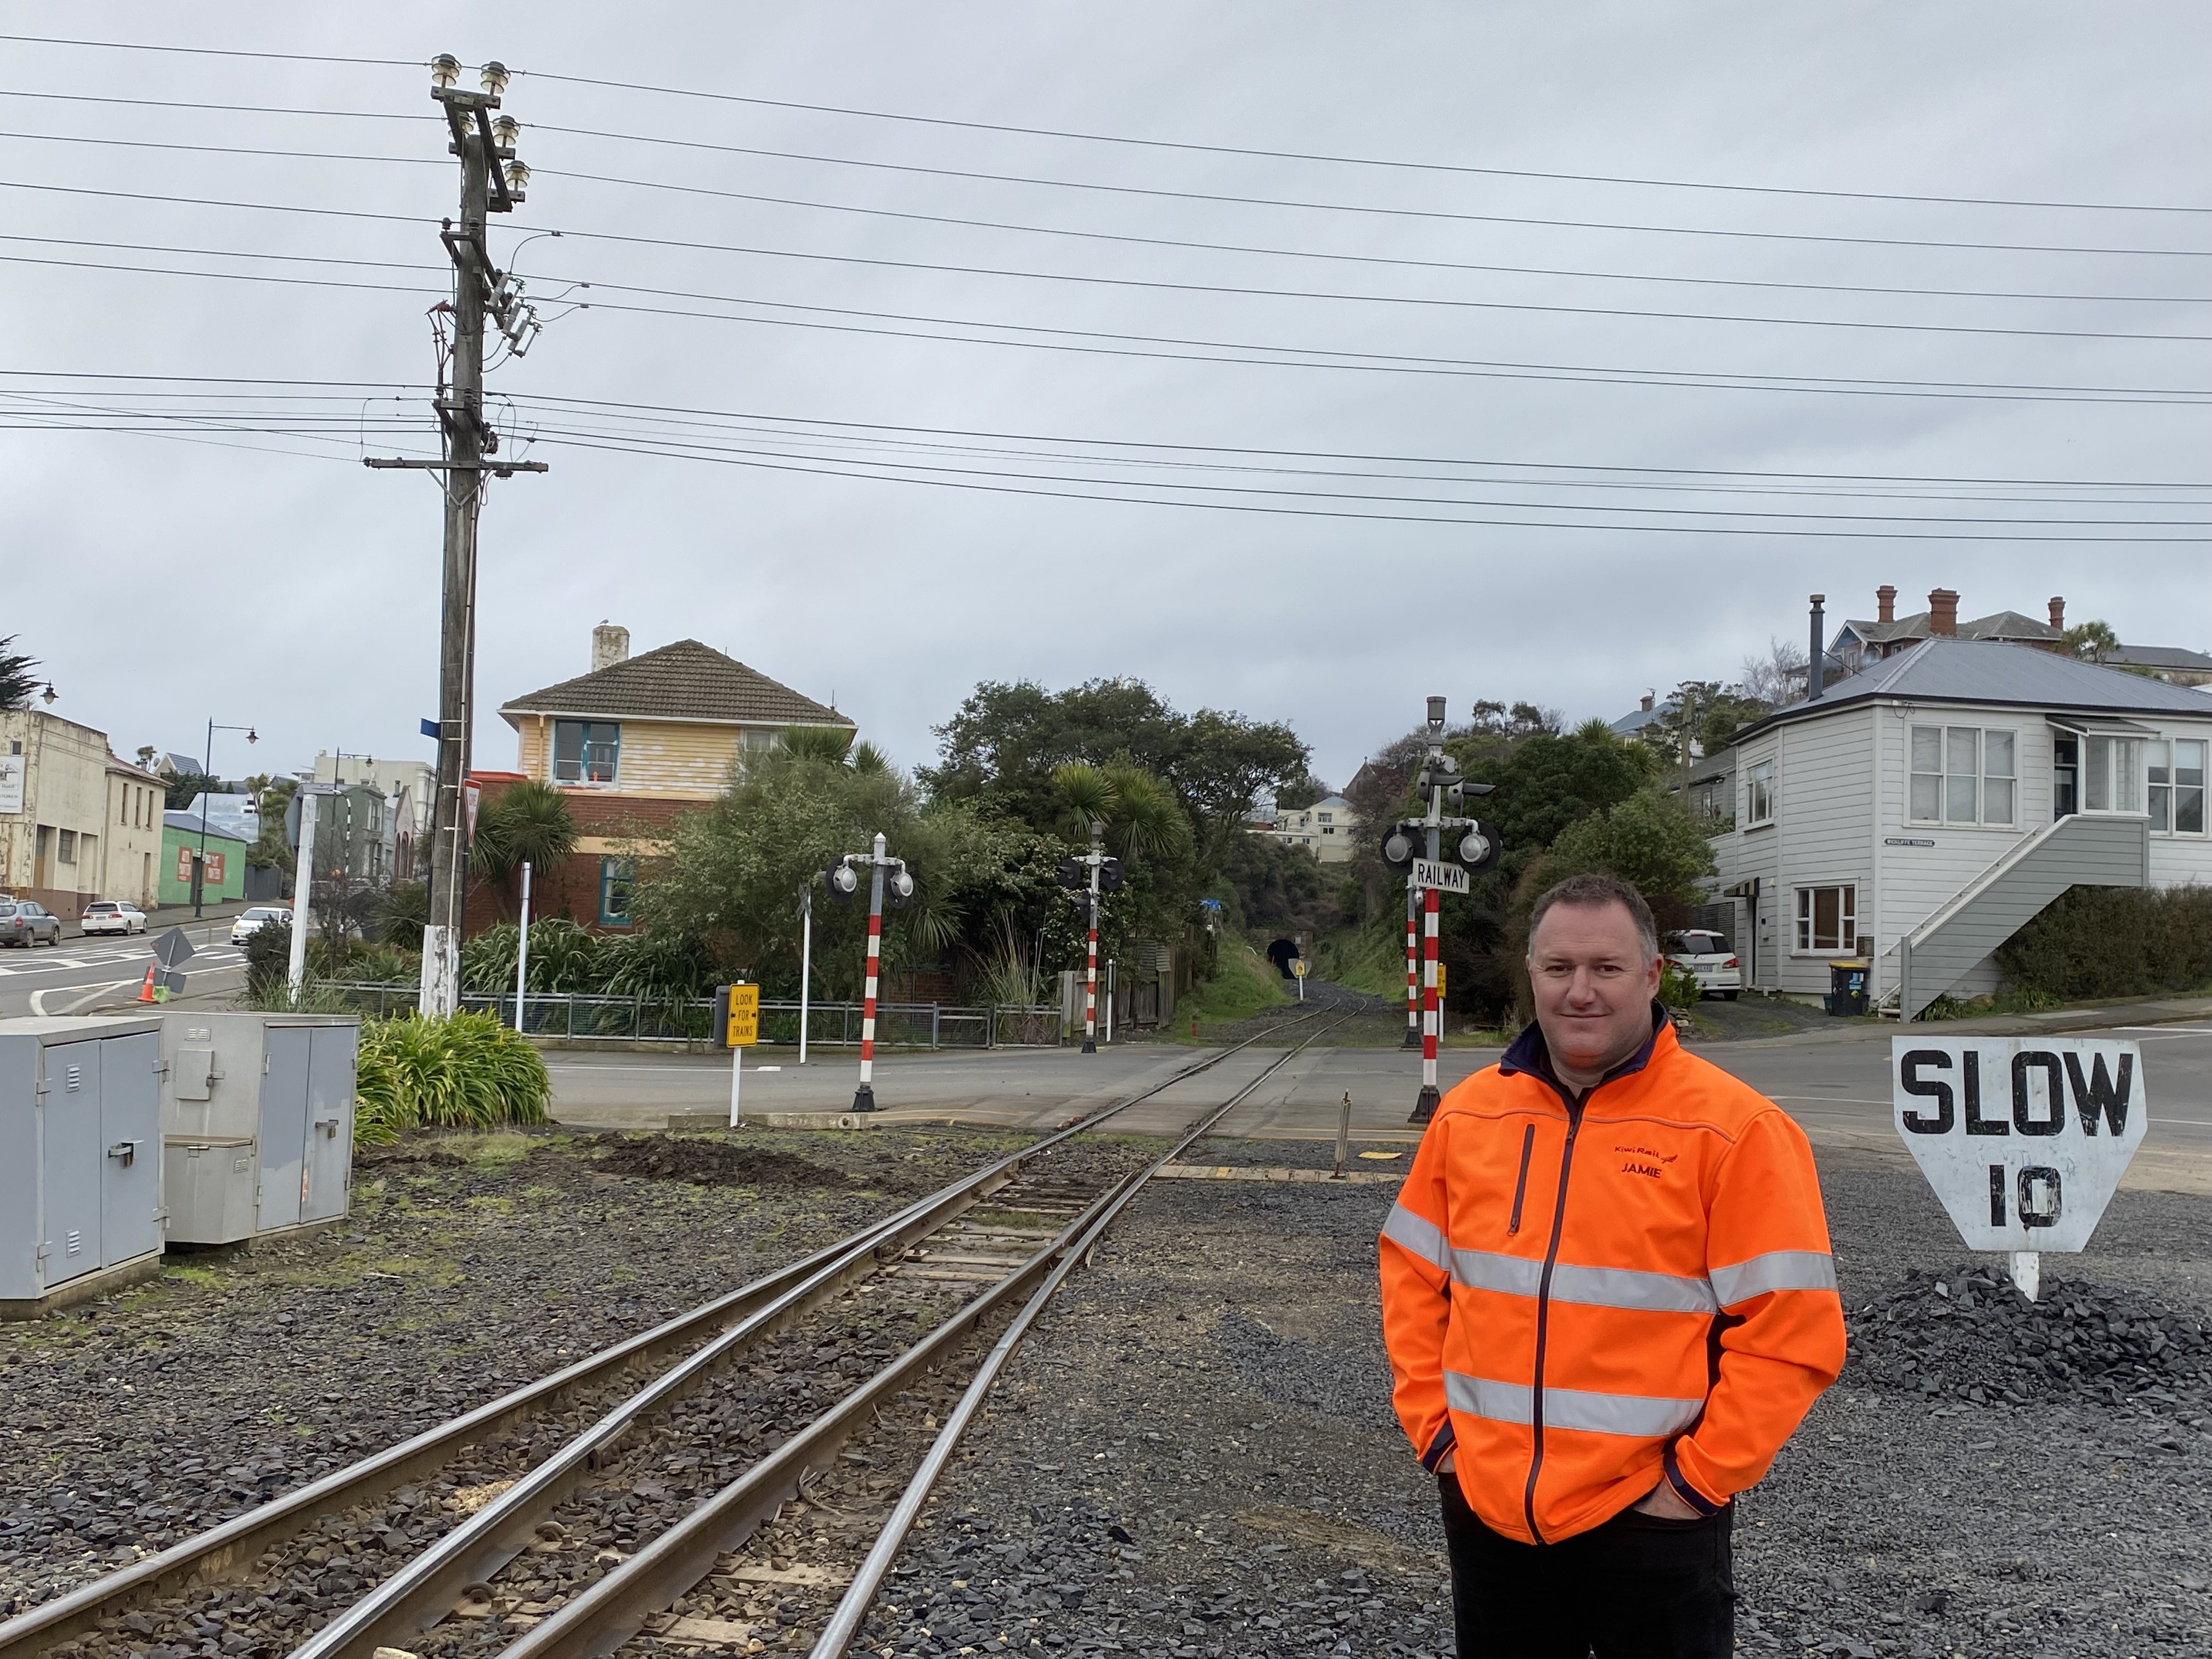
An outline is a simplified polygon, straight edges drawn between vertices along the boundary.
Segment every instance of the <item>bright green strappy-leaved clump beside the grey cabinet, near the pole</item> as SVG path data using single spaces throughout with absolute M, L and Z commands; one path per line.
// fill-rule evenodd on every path
M 356 1146 L 383 1146 L 403 1128 L 542 1124 L 549 1097 L 544 1060 L 491 1013 L 361 1026 Z

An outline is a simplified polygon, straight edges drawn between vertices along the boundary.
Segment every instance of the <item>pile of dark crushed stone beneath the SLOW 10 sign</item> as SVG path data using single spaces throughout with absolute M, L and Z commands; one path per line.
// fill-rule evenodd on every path
M 1980 1267 L 1913 1272 L 1847 1318 L 1845 1378 L 1971 1405 L 2212 1396 L 2212 1332 L 2163 1303 L 2046 1276 L 2028 1301 Z

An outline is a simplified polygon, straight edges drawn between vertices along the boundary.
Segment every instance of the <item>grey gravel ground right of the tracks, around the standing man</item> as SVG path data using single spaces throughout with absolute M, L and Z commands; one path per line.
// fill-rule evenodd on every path
M 1312 1148 L 1206 1144 L 1190 1161 L 1230 1157 L 1294 1166 Z M 1825 1152 L 1823 1179 L 1854 1352 L 1741 1500 L 1741 1650 L 2212 1650 L 2212 1420 L 2201 1383 L 2166 1360 L 2203 1360 L 2181 1332 L 2212 1303 L 2208 1206 L 2121 1192 L 2097 1250 L 2059 1272 L 2046 1256 L 2051 1298 L 2013 1314 L 2002 1272 L 1960 1248 L 1902 1157 Z M 1150 1188 L 1018 1356 L 869 1646 L 1453 1652 L 1436 1493 L 1389 1411 L 1380 1347 L 1374 1256 L 1391 1197 Z M 1924 1310 L 1962 1290 L 1966 1316 Z M 2031 1380 L 2053 1329 L 2077 1332 L 2057 1345 L 2075 1376 Z M 2166 1345 L 2143 1369 L 2150 1329 Z

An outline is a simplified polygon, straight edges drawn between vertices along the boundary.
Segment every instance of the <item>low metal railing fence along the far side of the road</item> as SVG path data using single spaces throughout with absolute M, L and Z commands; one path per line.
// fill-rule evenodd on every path
M 378 1020 L 414 1013 L 420 991 L 411 984 L 372 984 L 332 980 L 325 991 L 347 1006 Z M 500 1024 L 515 1024 L 515 998 L 462 995 L 471 1013 L 493 1013 Z M 812 1002 L 805 1009 L 810 1048 L 858 1048 L 858 1002 Z M 761 1042 L 799 1044 L 801 1009 L 796 1002 L 761 1004 Z M 619 998 L 571 991 L 531 991 L 524 1000 L 522 1033 L 529 1037 L 562 1037 L 588 1042 L 708 1042 L 714 1004 L 708 998 Z M 975 1006 L 949 1002 L 878 1002 L 876 1044 L 887 1048 L 1055 1048 L 1066 1037 L 1060 1009 L 987 1002 Z

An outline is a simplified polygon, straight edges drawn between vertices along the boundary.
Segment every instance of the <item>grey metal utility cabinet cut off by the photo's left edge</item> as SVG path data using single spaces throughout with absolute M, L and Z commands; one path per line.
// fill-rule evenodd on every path
M 161 1267 L 161 1022 L 0 1020 L 0 1316 Z

